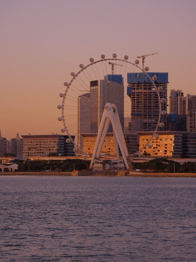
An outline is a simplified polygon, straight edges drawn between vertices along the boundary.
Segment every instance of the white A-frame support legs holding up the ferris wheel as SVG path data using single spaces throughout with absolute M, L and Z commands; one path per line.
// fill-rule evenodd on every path
M 121 153 L 123 155 L 123 159 L 126 165 L 126 168 L 129 169 L 129 164 L 127 162 L 127 156 L 128 156 L 128 150 L 125 143 L 125 138 L 123 135 L 123 130 L 121 127 L 119 114 L 116 109 L 115 104 L 107 103 L 104 108 L 103 116 L 100 123 L 99 132 L 97 134 L 97 140 L 95 144 L 95 148 L 92 154 L 91 164 L 90 168 L 92 168 L 92 165 L 94 163 L 94 160 L 96 158 L 99 158 L 101 149 L 104 144 L 104 140 L 109 128 L 110 123 L 112 124 L 112 129 L 114 133 L 114 142 L 115 142 L 115 150 L 116 150 L 116 158 L 119 158 L 119 149 L 118 145 L 120 147 Z

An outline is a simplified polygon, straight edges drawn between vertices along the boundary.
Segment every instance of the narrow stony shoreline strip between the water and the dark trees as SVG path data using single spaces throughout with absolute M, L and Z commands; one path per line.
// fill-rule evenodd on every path
M 87 172 L 82 172 L 83 176 L 108 176 L 104 174 L 88 174 Z M 85 174 L 86 173 L 86 174 Z M 72 172 L 7 172 L 0 173 L 0 176 L 73 176 Z M 74 175 L 75 176 L 75 175 Z M 117 176 L 117 175 L 114 175 Z M 119 176 L 119 175 L 118 175 Z M 123 175 L 121 175 L 123 176 Z M 151 172 L 129 172 L 130 177 L 182 177 L 182 178 L 196 178 L 196 173 L 151 173 Z

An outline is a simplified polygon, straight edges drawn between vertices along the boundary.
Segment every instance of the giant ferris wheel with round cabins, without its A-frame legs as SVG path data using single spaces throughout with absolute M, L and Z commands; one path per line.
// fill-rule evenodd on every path
M 129 88 L 127 75 L 129 74 L 127 73 L 132 73 L 132 78 L 134 77 L 135 79 L 131 81 L 135 83 L 136 88 L 142 78 L 147 78 L 156 94 L 157 100 L 156 121 L 150 123 L 151 130 L 149 130 L 148 127 L 145 129 L 144 126 L 141 129 L 142 131 L 153 131 L 153 133 L 151 132 L 151 138 L 140 150 L 135 150 L 135 152 L 130 153 L 127 157 L 130 158 L 135 155 L 142 156 L 141 150 L 143 148 L 152 148 L 150 141 L 153 139 L 153 136 L 156 138 L 159 137 L 156 131 L 164 126 L 164 123 L 160 123 L 161 116 L 166 115 L 166 111 L 162 110 L 163 107 L 161 106 L 161 104 L 166 103 L 166 99 L 161 96 L 163 87 L 156 86 L 155 81 L 157 77 L 155 75 L 152 77 L 149 76 L 147 73 L 147 71 L 149 71 L 148 67 L 142 69 L 138 66 L 139 60 L 135 60 L 132 63 L 128 61 L 128 58 L 129 57 L 125 55 L 124 59 L 118 59 L 115 53 L 112 55 L 112 58 L 105 58 L 104 54 L 102 54 L 101 59 L 97 61 L 90 58 L 88 65 L 80 64 L 80 70 L 77 73 L 70 73 L 72 79 L 70 82 L 64 83 L 65 91 L 59 94 L 59 96 L 62 97 L 62 105 L 58 105 L 57 108 L 61 110 L 62 116 L 58 117 L 58 120 L 62 121 L 64 125 L 61 132 L 65 132 L 69 136 L 69 138 L 66 139 L 66 143 L 72 142 L 74 144 L 74 152 L 82 154 L 83 158 L 87 158 L 92 154 L 89 153 L 89 148 L 84 150 L 83 144 L 81 143 L 81 134 L 91 133 L 94 135 L 98 132 L 101 112 L 104 111 L 107 102 L 117 105 L 119 119 L 122 125 L 125 119 L 126 122 L 131 122 L 131 100 L 130 96 L 127 95 Z M 114 88 L 114 82 L 123 87 L 123 89 Z M 99 91 L 95 92 L 96 87 L 102 84 L 105 85 L 104 88 L 100 88 Z M 140 88 L 139 85 L 138 88 Z M 102 97 L 102 100 L 100 100 L 100 97 Z M 98 117 L 95 112 L 96 110 L 99 111 Z M 145 112 L 145 114 L 148 114 L 148 112 Z M 153 112 L 151 112 L 151 114 L 153 114 Z M 139 128 L 138 122 L 136 125 Z

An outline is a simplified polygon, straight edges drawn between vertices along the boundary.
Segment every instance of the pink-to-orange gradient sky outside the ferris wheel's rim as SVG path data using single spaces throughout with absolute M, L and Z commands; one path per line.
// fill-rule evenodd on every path
M 196 95 L 195 0 L 0 0 L 0 130 L 62 134 L 59 93 L 70 72 L 99 60 L 159 52 L 149 72 L 168 72 L 170 89 Z

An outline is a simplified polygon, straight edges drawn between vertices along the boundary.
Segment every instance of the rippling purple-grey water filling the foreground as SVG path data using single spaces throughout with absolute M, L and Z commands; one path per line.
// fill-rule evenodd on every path
M 196 178 L 0 177 L 1 261 L 195 261 Z

